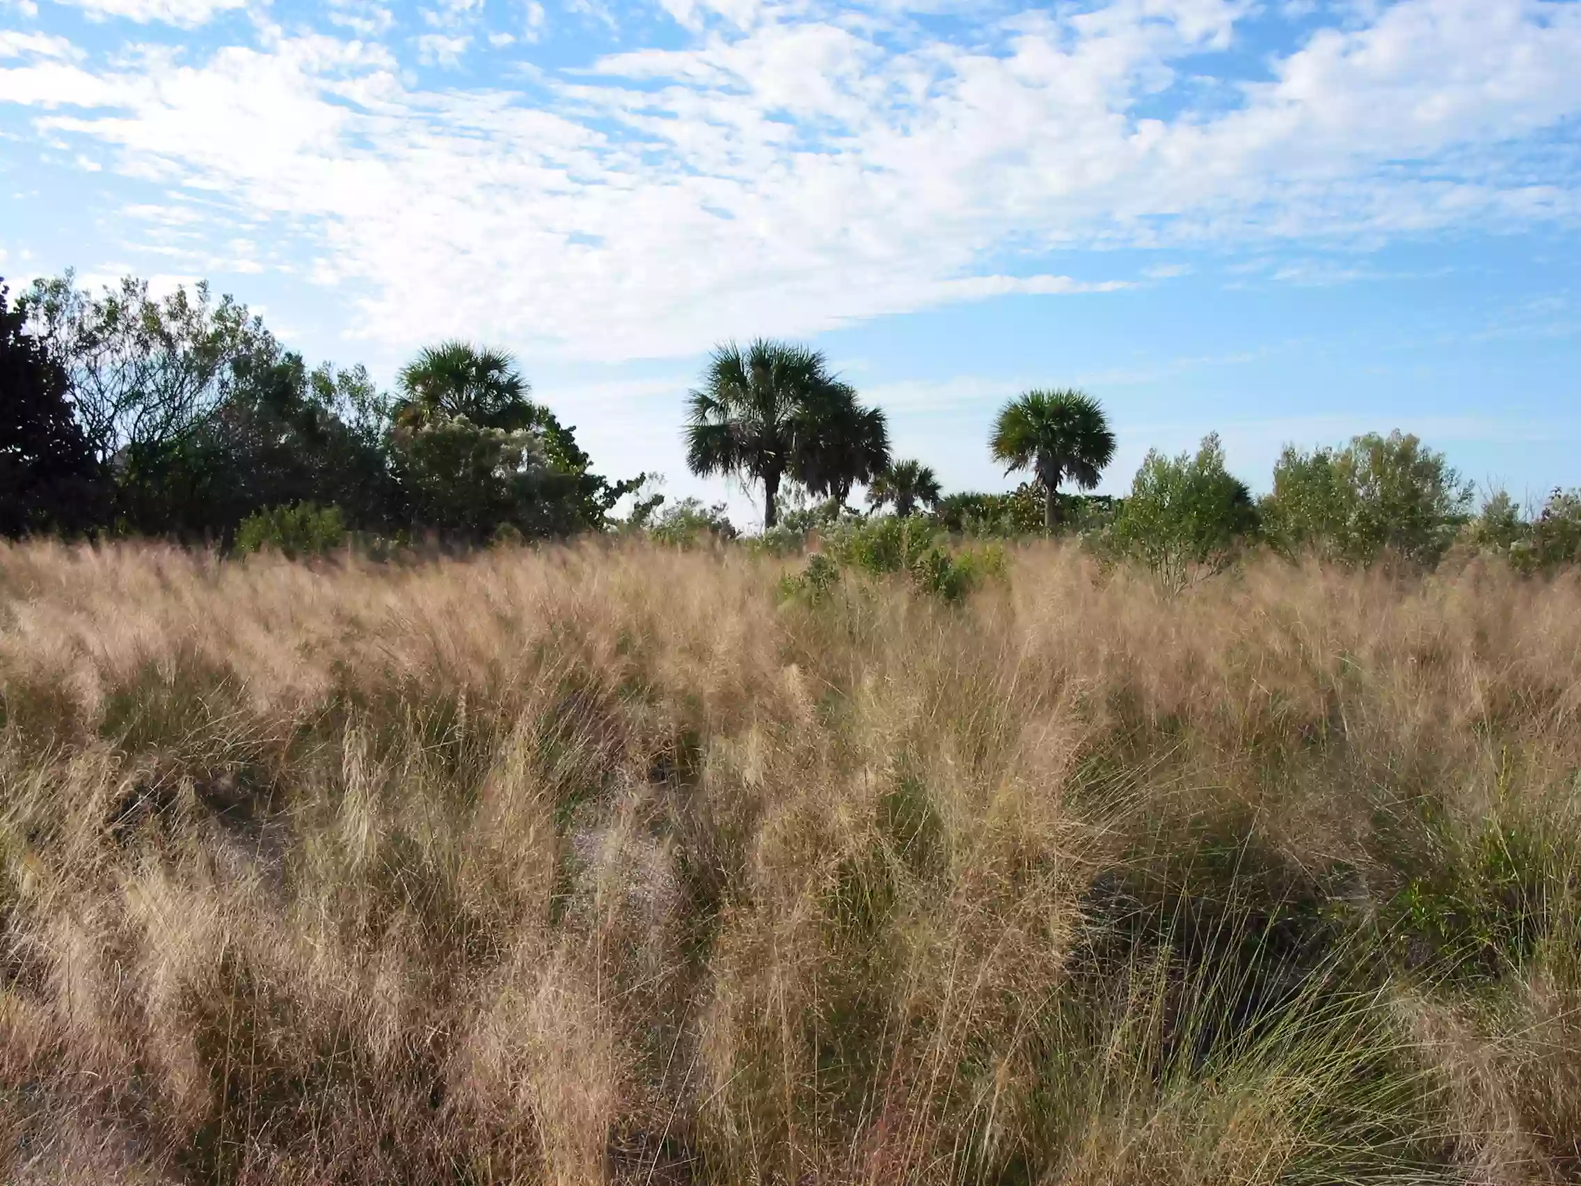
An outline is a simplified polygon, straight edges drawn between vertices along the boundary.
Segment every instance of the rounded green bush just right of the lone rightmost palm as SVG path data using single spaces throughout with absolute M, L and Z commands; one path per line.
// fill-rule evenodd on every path
M 1209 433 L 1195 455 L 1146 455 L 1110 538 L 1179 590 L 1197 574 L 1222 571 L 1255 531 L 1252 492 L 1225 468 L 1219 435 Z

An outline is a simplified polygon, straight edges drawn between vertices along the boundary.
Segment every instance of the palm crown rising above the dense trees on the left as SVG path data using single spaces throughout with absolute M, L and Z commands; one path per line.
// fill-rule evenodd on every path
M 539 408 L 531 387 L 504 351 L 470 342 L 427 346 L 397 376 L 402 402 L 397 422 L 419 427 L 433 416 L 465 416 L 484 429 L 536 427 Z

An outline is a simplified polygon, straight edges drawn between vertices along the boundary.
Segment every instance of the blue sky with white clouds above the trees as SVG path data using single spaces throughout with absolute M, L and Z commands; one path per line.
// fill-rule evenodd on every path
M 685 466 L 726 340 L 811 342 L 945 489 L 1028 387 L 1415 432 L 1581 485 L 1581 0 L 0 0 L 0 275 L 207 277 L 311 362 L 509 349 Z

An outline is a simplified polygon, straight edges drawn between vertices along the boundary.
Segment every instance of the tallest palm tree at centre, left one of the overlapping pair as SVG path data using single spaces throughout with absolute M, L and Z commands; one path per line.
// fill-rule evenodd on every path
M 764 528 L 772 528 L 779 482 L 806 457 L 811 408 L 833 384 L 824 356 L 806 346 L 757 338 L 746 349 L 716 348 L 688 400 L 688 468 L 762 482 Z

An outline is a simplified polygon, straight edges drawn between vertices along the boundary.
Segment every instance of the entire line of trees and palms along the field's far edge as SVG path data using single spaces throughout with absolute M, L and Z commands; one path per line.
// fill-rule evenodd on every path
M 575 429 L 531 398 L 511 356 L 465 342 L 422 349 L 381 392 L 362 367 L 308 368 L 261 318 L 207 285 L 155 297 L 126 278 L 98 294 L 73 275 L 9 304 L 0 283 L 0 533 L 160 536 L 259 547 L 375 538 L 564 538 L 643 530 L 735 536 L 723 508 L 661 509 L 648 474 L 610 481 Z M 1102 405 L 1073 389 L 1009 400 L 990 455 L 1017 490 L 944 495 L 931 466 L 892 455 L 882 408 L 828 361 L 760 338 L 716 348 L 686 397 L 686 463 L 762 492 L 765 538 L 870 514 L 960 534 L 1080 531 L 1168 584 L 1219 571 L 1247 547 L 1417 568 L 1456 542 L 1523 568 L 1581 557 L 1581 493 L 1540 509 L 1473 490 L 1406 433 L 1333 449 L 1287 448 L 1257 500 L 1216 435 L 1195 452 L 1148 454 L 1119 498 L 1092 490 L 1116 440 Z M 798 503 L 787 516 L 783 501 Z M 615 504 L 634 497 L 629 517 Z M 806 503 L 811 501 L 811 506 Z

